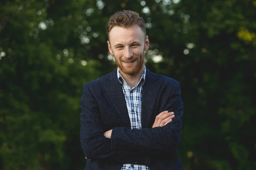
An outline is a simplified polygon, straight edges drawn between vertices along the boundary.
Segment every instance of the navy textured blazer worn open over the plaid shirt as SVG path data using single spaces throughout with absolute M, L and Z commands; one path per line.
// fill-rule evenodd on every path
M 87 157 L 85 170 L 120 170 L 123 164 L 144 164 L 150 170 L 183 170 L 177 158 L 183 103 L 174 79 L 146 70 L 141 125 L 131 129 L 117 70 L 84 85 L 81 98 L 81 146 Z M 151 128 L 162 111 L 175 118 Z M 111 130 L 111 139 L 104 132 Z M 90 159 L 90 160 L 89 160 Z

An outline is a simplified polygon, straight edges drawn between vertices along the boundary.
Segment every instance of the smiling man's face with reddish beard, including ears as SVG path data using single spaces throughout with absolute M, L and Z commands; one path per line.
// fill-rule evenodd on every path
M 136 75 L 144 69 L 144 51 L 148 37 L 137 25 L 128 28 L 114 26 L 109 32 L 108 50 L 114 55 L 121 74 Z

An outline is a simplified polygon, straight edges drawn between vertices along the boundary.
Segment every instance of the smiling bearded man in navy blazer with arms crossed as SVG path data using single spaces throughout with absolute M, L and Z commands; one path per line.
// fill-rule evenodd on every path
M 144 20 L 119 11 L 106 26 L 117 68 L 84 85 L 81 145 L 86 170 L 183 170 L 177 158 L 183 103 L 174 79 L 145 68 Z

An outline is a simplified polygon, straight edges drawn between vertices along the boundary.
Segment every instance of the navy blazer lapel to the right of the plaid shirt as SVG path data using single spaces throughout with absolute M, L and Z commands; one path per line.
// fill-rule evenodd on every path
M 141 127 L 147 128 L 150 123 L 154 104 L 157 99 L 160 85 L 157 85 L 157 76 L 148 69 L 146 70 L 145 83 L 142 92 L 141 104 Z

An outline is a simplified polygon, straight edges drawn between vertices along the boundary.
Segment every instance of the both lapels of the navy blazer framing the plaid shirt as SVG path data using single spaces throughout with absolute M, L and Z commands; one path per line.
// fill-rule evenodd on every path
M 148 127 L 151 119 L 151 113 L 154 109 L 154 103 L 159 91 L 159 85 L 157 85 L 157 74 L 152 73 L 146 68 L 145 83 L 143 85 L 142 94 L 142 107 L 141 107 L 141 124 L 142 127 Z M 114 108 L 122 119 L 125 127 L 131 128 L 131 122 L 126 106 L 125 96 L 122 90 L 122 84 L 118 81 L 117 68 L 108 74 L 105 79 L 104 86 L 105 91 Z M 155 96 L 155 97 L 152 97 Z

